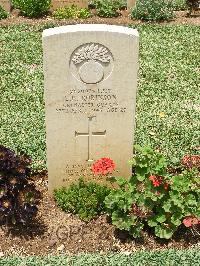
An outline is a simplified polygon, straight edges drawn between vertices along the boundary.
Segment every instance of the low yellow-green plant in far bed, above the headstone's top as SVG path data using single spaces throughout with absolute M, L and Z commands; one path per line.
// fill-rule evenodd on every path
M 92 16 L 91 12 L 87 8 L 79 8 L 76 5 L 60 7 L 53 12 L 53 16 L 56 19 L 68 19 L 68 18 L 89 18 Z

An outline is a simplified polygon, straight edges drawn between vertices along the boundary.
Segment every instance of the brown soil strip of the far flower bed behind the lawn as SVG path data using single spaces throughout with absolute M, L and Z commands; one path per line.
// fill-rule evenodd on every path
M 191 15 L 187 16 L 187 11 L 177 11 L 176 18 L 171 20 L 170 22 L 149 22 L 151 24 L 175 24 L 175 25 L 184 25 L 184 24 L 191 24 L 191 25 L 200 25 L 200 11 Z M 92 24 L 110 24 L 110 25 L 130 25 L 130 24 L 144 24 L 147 22 L 143 22 L 141 20 L 132 20 L 130 18 L 129 13 L 126 10 L 121 11 L 121 16 L 116 18 L 100 18 L 94 15 L 88 19 L 66 19 L 66 20 L 56 20 L 51 16 L 46 16 L 44 18 L 39 19 L 30 19 L 19 15 L 19 11 L 13 10 L 11 15 L 7 19 L 0 20 L 0 26 L 6 25 L 13 25 L 13 24 L 21 24 L 26 23 L 30 25 L 35 24 L 44 24 L 44 23 L 55 23 L 58 25 L 71 25 L 71 24 L 78 24 L 78 23 L 92 23 Z

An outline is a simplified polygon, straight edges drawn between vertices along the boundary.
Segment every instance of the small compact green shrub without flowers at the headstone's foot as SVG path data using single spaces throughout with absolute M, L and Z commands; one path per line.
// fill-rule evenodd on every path
M 62 210 L 78 214 L 88 222 L 105 210 L 104 199 L 109 192 L 105 186 L 79 179 L 78 184 L 72 184 L 68 189 L 55 190 L 54 196 Z

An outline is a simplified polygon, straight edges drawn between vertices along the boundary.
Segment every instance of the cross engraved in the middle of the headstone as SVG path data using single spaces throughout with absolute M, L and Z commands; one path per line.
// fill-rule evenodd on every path
M 79 136 L 83 136 L 83 137 L 87 137 L 88 138 L 88 158 L 87 158 L 87 162 L 93 162 L 93 159 L 91 158 L 91 147 L 92 147 L 92 137 L 98 137 L 98 136 L 105 136 L 106 135 L 106 130 L 104 130 L 103 132 L 92 132 L 91 131 L 91 123 L 92 123 L 92 119 L 95 116 L 89 116 L 88 117 L 88 132 L 86 133 L 80 133 L 75 131 L 75 137 L 79 137 Z

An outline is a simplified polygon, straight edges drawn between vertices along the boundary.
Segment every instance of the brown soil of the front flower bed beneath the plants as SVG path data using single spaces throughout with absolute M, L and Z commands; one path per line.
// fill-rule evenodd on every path
M 134 239 L 127 232 L 116 230 L 106 215 L 85 223 L 56 206 L 48 195 L 47 180 L 46 173 L 34 176 L 34 183 L 42 195 L 34 221 L 29 226 L 0 227 L 0 255 L 129 254 L 135 250 L 200 247 L 200 226 L 190 230 L 182 227 L 172 240 L 162 240 L 148 230 L 144 230 L 141 238 Z

